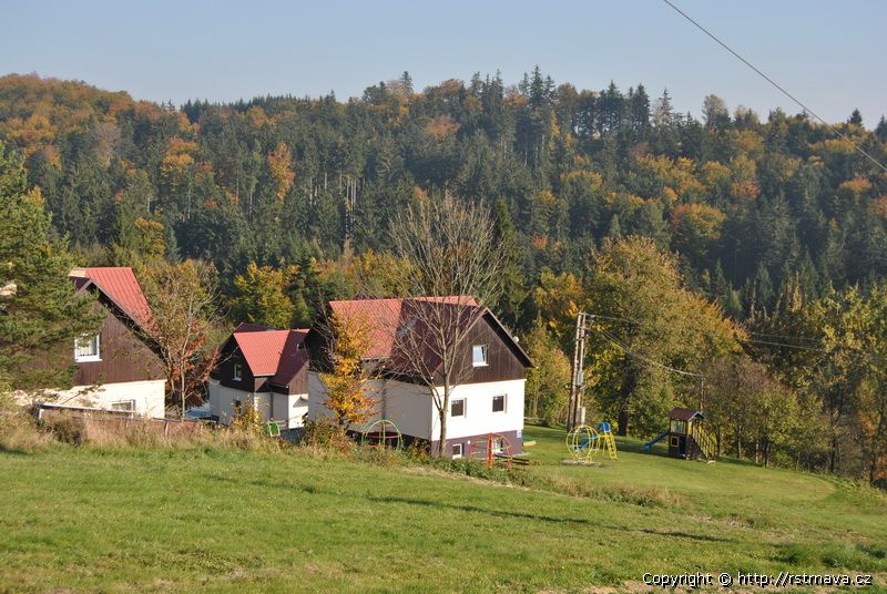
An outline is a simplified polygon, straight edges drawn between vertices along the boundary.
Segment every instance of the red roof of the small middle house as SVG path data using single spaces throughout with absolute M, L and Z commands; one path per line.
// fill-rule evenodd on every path
M 274 383 L 285 386 L 307 360 L 298 346 L 308 330 L 261 328 L 242 324 L 232 336 L 254 376 L 274 376 Z

